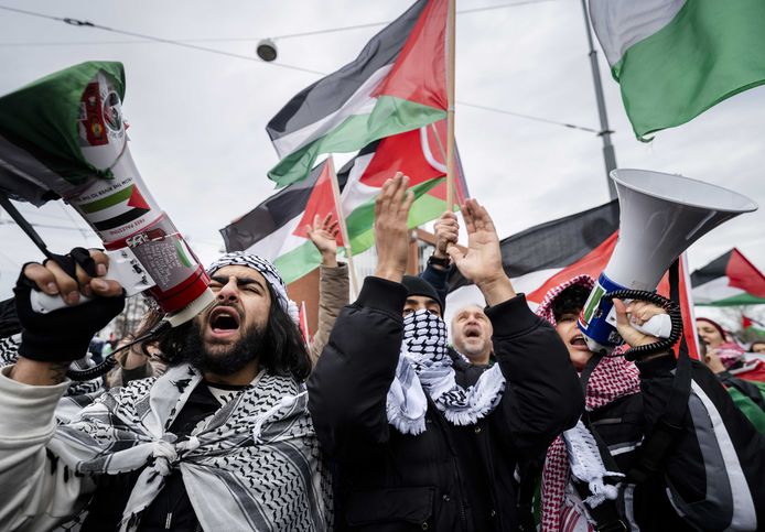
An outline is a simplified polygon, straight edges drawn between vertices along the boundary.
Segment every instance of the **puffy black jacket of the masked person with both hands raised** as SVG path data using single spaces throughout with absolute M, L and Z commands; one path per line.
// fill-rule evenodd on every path
M 491 307 L 503 399 L 475 425 L 454 426 L 429 404 L 424 433 L 402 435 L 386 398 L 402 338 L 406 290 L 367 278 L 343 310 L 311 374 L 309 408 L 334 462 L 340 531 L 507 531 L 516 528 L 514 471 L 572 426 L 583 395 L 556 332 L 522 295 Z M 457 365 L 457 383 L 481 374 Z

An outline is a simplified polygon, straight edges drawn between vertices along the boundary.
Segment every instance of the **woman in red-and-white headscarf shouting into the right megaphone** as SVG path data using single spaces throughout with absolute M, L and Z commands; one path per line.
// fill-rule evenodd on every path
M 690 392 L 676 394 L 681 365 L 671 351 L 634 363 L 618 356 L 624 351 L 603 357 L 591 351 L 577 321 L 593 284 L 579 275 L 548 292 L 537 310 L 565 344 L 586 402 L 580 423 L 545 457 L 541 530 L 762 529 L 765 479 L 755 471 L 765 473 L 765 438 L 703 365 L 690 362 L 685 373 Z M 659 307 L 643 302 L 615 307 L 625 341 L 633 347 L 657 341 L 632 325 Z M 681 413 L 675 432 L 662 426 L 672 419 L 670 409 Z M 656 452 L 656 434 L 669 435 L 671 444 Z

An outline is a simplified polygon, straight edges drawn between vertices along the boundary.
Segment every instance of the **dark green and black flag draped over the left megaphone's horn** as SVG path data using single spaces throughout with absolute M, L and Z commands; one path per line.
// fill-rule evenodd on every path
M 87 116 L 83 96 L 99 74 L 121 101 L 125 72 L 110 62 L 82 63 L 0 98 L 0 192 L 40 206 L 109 177 L 86 161 L 78 132 Z M 106 139 L 104 121 L 114 119 L 108 107 L 95 111 L 99 120 L 88 130 L 94 142 Z

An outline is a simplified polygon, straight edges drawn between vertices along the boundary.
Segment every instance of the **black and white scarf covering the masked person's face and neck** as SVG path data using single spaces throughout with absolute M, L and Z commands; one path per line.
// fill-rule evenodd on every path
M 425 430 L 425 393 L 454 425 L 477 422 L 502 400 L 505 377 L 498 363 L 465 389 L 454 380 L 446 349 L 446 325 L 439 316 L 420 310 L 403 318 L 401 354 L 387 398 L 388 422 L 402 434 Z

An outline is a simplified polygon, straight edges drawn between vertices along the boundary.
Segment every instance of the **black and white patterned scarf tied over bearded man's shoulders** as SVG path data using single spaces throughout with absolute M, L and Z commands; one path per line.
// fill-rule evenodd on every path
M 330 528 L 332 490 L 304 386 L 261 372 L 179 439 L 168 428 L 201 381 L 184 363 L 112 390 L 60 425 L 49 449 L 82 475 L 142 469 L 121 531 L 138 528 L 173 469 L 181 470 L 204 530 Z

